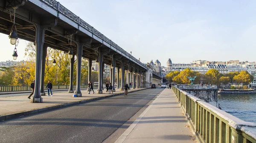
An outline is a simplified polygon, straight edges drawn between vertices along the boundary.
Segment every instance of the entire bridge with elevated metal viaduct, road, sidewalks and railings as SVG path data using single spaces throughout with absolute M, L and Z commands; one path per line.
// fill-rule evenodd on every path
M 0 32 L 15 45 L 14 59 L 17 39 L 33 42 L 36 48 L 31 99 L 27 86 L 4 87 L 0 92 L 0 143 L 256 143 L 255 123 L 236 118 L 176 84 L 161 88 L 163 79 L 151 64 L 134 58 L 56 0 L 0 0 Z M 70 84 L 64 85 L 67 90 L 55 86 L 53 96 L 45 96 L 44 90 L 49 47 L 70 58 Z M 99 66 L 95 94 L 81 85 L 82 58 L 88 60 L 88 83 L 92 61 Z M 103 92 L 104 64 L 111 66 L 113 84 L 117 73 L 113 93 Z M 125 83 L 134 83 L 127 96 Z

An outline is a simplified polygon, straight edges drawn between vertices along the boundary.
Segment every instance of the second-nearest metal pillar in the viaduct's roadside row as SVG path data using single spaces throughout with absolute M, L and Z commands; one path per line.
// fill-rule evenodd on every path
M 76 96 L 81 97 L 81 65 L 82 65 L 82 55 L 83 55 L 83 43 L 77 42 L 76 49 Z

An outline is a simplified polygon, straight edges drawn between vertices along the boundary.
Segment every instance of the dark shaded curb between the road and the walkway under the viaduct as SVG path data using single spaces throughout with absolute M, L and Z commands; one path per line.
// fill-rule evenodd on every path
M 149 89 L 149 88 L 145 88 L 145 89 L 141 89 L 141 90 L 146 90 L 146 89 Z M 134 92 L 141 91 L 141 90 L 130 91 L 129 93 L 134 93 Z M 5 120 L 12 119 L 12 118 L 17 118 L 17 117 L 22 117 L 22 116 L 27 116 L 27 115 L 32 115 L 35 113 L 41 113 L 41 112 L 45 112 L 45 111 L 49 111 L 49 110 L 53 110 L 53 109 L 68 107 L 68 106 L 72 106 L 72 105 L 76 105 L 76 104 L 82 104 L 82 103 L 99 100 L 99 99 L 103 99 L 103 98 L 108 98 L 108 97 L 113 97 L 113 96 L 117 96 L 117 95 L 122 95 L 122 94 L 124 94 L 124 93 L 116 93 L 113 95 L 106 95 L 106 96 L 101 96 L 101 97 L 97 97 L 97 98 L 91 98 L 91 99 L 85 99 L 85 100 L 81 100 L 81 101 L 53 105 L 50 107 L 44 107 L 44 108 L 32 109 L 32 110 L 23 111 L 23 112 L 17 112 L 17 113 L 13 113 L 13 114 L 1 115 L 0 121 L 5 121 Z

